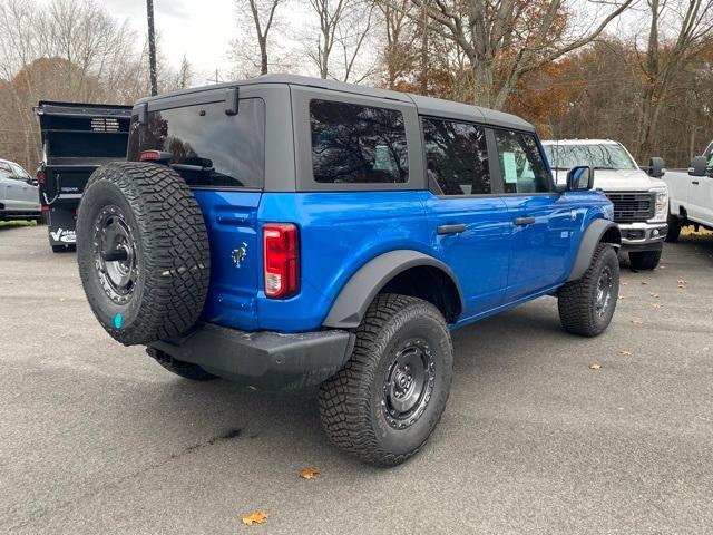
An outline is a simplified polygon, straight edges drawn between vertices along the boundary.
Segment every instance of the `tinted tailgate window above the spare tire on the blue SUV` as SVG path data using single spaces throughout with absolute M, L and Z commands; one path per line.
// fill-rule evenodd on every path
M 241 99 L 237 115 L 226 115 L 224 101 L 149 111 L 128 159 L 144 150 L 170 153 L 172 167 L 189 186 L 262 189 L 265 104 Z

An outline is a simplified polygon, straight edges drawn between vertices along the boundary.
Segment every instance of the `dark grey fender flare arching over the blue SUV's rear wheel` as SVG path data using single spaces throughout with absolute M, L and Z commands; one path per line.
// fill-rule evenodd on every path
M 322 323 L 334 329 L 359 327 L 377 294 L 399 273 L 411 268 L 432 266 L 450 276 L 463 308 L 463 294 L 455 273 L 438 259 L 412 250 L 383 253 L 362 265 L 342 288 Z

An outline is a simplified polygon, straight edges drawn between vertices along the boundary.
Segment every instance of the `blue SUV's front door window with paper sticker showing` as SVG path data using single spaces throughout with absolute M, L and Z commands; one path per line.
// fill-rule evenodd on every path
M 531 134 L 495 130 L 505 193 L 545 193 L 550 178 Z

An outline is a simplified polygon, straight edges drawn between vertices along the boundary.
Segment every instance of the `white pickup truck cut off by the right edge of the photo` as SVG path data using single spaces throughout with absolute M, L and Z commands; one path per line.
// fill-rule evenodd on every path
M 671 194 L 666 241 L 675 242 L 687 225 L 713 231 L 713 142 L 688 169 L 666 171 L 664 182 Z

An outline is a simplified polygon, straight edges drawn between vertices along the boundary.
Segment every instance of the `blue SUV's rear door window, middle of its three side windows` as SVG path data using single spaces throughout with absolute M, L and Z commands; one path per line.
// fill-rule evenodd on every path
M 480 126 L 423 118 L 426 171 L 445 195 L 490 193 L 488 146 Z

